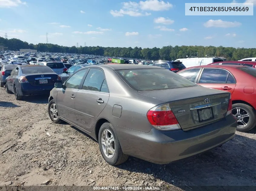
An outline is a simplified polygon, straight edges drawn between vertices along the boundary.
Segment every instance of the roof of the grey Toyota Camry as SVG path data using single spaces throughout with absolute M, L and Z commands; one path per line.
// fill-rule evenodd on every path
M 129 69 L 165 69 L 156 66 L 149 65 L 139 65 L 139 64 L 102 64 L 102 65 L 90 65 L 89 67 L 101 67 L 101 68 L 109 68 L 112 70 L 129 70 Z

